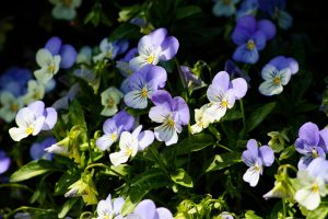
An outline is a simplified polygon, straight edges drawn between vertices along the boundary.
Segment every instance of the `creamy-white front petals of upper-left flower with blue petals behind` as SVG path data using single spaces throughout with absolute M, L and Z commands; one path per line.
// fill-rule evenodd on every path
M 36 53 L 36 62 L 40 67 L 39 70 L 34 71 L 34 76 L 38 82 L 47 84 L 48 81 L 59 71 L 60 56 L 52 54 L 45 48 Z

